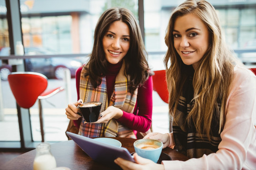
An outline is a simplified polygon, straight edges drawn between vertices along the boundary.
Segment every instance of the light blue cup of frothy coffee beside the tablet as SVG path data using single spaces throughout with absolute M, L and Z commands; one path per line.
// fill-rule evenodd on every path
M 163 149 L 163 143 L 154 139 L 139 139 L 133 143 L 133 146 L 139 156 L 150 159 L 155 163 L 158 161 Z

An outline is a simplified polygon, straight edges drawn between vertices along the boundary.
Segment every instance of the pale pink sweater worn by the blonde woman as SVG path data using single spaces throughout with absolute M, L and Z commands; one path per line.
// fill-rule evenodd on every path
M 165 170 L 256 170 L 256 76 L 238 66 L 234 72 L 219 150 L 188 161 L 162 161 Z

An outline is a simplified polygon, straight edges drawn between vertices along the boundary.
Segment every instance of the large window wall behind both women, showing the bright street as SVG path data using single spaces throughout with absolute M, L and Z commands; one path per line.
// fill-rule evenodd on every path
M 6 0 L 0 0 L 0 55 L 9 55 L 9 31 L 7 21 Z M 10 1 L 10 0 L 9 0 Z M 144 2 L 144 9 L 138 2 Z M 46 141 L 67 140 L 65 129 L 69 119 L 65 108 L 68 102 L 77 100 L 74 72 L 86 60 L 93 45 L 93 34 L 96 23 L 107 8 L 118 6 L 130 9 L 137 20 L 144 12 L 146 51 L 152 70 L 164 69 L 163 59 L 167 47 L 165 31 L 172 10 L 183 0 L 19 0 L 21 13 L 22 40 L 27 55 L 43 55 L 40 58 L 26 59 L 26 70 L 43 73 L 49 78 L 48 88 L 65 86 L 57 68 L 68 67 L 72 70 L 70 82 L 72 96 L 67 99 L 67 93 L 56 94 L 53 98 L 42 101 L 46 127 Z M 254 50 L 238 53 L 238 57 L 256 64 L 256 0 L 209 0 L 216 8 L 226 41 L 237 50 Z M 138 9 L 143 10 L 138 12 Z M 140 18 L 139 18 L 140 17 Z M 14 47 L 12 47 L 14 48 Z M 44 58 L 50 54 L 70 54 L 76 57 Z M 80 56 L 81 54 L 81 56 Z M 83 56 L 82 56 L 83 55 Z M 78 56 L 78 57 L 77 57 Z M 16 101 L 10 91 L 7 76 L 12 67 L 8 61 L 0 60 L 0 141 L 19 141 L 18 117 Z M 62 66 L 62 67 L 60 67 Z M 3 70 L 3 72 L 2 72 Z M 8 72 L 9 70 L 9 72 Z M 57 71 L 56 71 L 57 70 Z M 6 76 L 7 75 L 7 76 Z M 166 121 L 159 125 L 162 132 L 168 131 L 168 104 L 161 102 L 157 94 L 153 94 L 153 122 L 155 119 Z M 3 100 L 4 99 L 4 100 Z M 40 141 L 38 105 L 30 109 L 32 136 L 34 141 Z M 2 119 L 1 119 L 2 118 Z M 161 120 L 162 121 L 162 120 Z M 158 131 L 158 130 L 155 130 Z

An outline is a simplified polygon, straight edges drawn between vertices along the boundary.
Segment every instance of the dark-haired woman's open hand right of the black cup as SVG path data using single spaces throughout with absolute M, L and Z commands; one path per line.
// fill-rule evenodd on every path
M 123 116 L 123 111 L 114 106 L 109 106 L 105 111 L 102 111 L 100 118 L 93 123 L 107 123 L 110 119 L 119 119 Z

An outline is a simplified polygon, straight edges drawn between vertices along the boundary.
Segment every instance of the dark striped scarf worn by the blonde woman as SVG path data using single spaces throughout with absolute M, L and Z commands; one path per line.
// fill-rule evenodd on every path
M 221 138 L 218 134 L 219 121 L 216 115 L 214 115 L 211 122 L 213 133 L 210 136 L 211 141 L 204 134 L 202 134 L 201 138 L 200 134 L 196 132 L 195 126 L 189 126 L 186 122 L 186 117 L 194 103 L 192 100 L 194 93 L 192 79 L 193 76 L 190 76 L 184 84 L 183 96 L 179 99 L 178 107 L 173 118 L 173 134 L 176 150 L 187 155 L 189 158 L 200 158 L 203 154 L 216 153 Z

